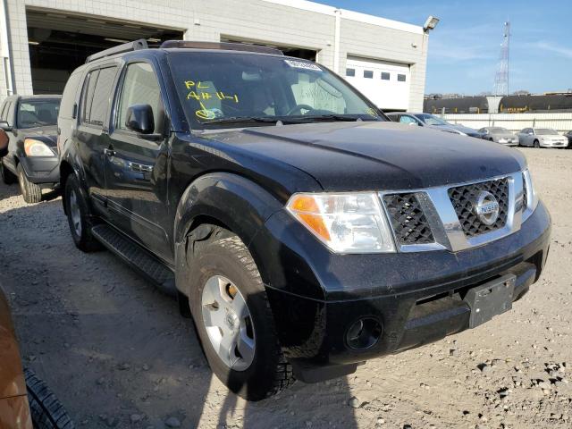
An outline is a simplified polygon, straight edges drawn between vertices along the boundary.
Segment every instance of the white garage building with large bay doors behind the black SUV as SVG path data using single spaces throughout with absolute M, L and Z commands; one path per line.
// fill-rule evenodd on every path
M 61 93 L 88 55 L 137 38 L 276 46 L 347 76 L 383 109 L 423 109 L 422 27 L 302 0 L 2 0 L 0 97 Z

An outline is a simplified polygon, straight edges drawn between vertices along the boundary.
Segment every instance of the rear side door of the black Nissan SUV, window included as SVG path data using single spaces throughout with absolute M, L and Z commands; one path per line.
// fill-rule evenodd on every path
M 93 206 L 106 215 L 105 148 L 109 146 L 109 105 L 117 75 L 116 64 L 88 71 L 80 98 L 76 139 Z

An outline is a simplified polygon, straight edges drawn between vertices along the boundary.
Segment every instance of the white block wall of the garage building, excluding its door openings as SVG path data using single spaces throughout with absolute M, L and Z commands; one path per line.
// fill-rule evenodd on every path
M 421 27 L 398 21 L 303 0 L 6 0 L 6 4 L 14 91 L 20 94 L 33 91 L 26 23 L 29 7 L 181 29 L 188 40 L 219 41 L 229 36 L 313 49 L 318 52 L 318 63 L 341 74 L 348 55 L 408 63 L 410 110 L 423 107 L 427 37 Z M 0 85 L 5 86 L 2 80 Z M 5 93 L 0 88 L 0 97 Z

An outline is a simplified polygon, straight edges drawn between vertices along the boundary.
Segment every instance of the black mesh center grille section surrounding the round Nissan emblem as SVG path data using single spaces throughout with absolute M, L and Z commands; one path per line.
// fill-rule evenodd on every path
M 483 191 L 490 192 L 499 203 L 499 216 L 492 225 L 481 222 L 475 214 L 475 199 Z M 455 208 L 455 213 L 457 213 L 458 222 L 467 237 L 475 237 L 485 232 L 498 230 L 507 223 L 509 217 L 509 180 L 506 177 L 496 181 L 483 181 L 450 188 L 449 198 Z

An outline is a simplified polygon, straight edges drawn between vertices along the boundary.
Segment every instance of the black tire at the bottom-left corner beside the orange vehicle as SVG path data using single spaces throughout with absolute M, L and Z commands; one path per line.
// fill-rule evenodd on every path
M 24 371 L 24 376 L 34 429 L 74 429 L 67 411 L 46 383 L 29 369 Z

